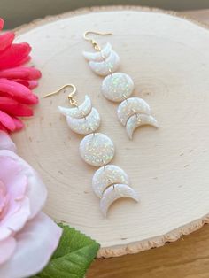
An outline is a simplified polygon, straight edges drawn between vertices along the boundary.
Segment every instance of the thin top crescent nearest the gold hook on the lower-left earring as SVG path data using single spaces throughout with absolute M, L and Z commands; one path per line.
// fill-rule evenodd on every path
M 89 112 L 91 111 L 91 101 L 89 96 L 85 96 L 84 102 L 79 105 L 78 107 L 74 108 L 66 108 L 62 106 L 58 106 L 59 112 L 63 114 L 64 116 L 69 116 L 75 119 L 81 119 L 83 117 L 86 117 Z

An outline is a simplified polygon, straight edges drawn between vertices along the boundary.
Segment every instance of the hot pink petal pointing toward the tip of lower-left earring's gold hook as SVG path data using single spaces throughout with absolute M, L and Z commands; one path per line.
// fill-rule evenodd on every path
M 7 79 L 0 79 L 0 96 L 11 96 L 22 104 L 37 104 L 36 97 L 30 89 L 22 84 Z

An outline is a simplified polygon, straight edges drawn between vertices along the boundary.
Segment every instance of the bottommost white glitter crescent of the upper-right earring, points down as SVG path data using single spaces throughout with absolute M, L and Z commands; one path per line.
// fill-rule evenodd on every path
M 137 113 L 137 114 L 131 116 L 128 119 L 127 125 L 126 125 L 128 138 L 132 139 L 133 133 L 134 133 L 136 127 L 142 127 L 144 125 L 149 125 L 149 126 L 156 127 L 156 128 L 159 127 L 158 121 L 155 120 L 155 118 L 152 117 L 151 115 Z

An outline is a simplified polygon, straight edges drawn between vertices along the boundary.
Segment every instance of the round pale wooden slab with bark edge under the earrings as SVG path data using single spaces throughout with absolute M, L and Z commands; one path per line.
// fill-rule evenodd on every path
M 159 130 L 143 127 L 128 140 L 117 104 L 101 96 L 103 79 L 82 57 L 82 50 L 92 50 L 82 38 L 86 30 L 113 33 L 97 41 L 111 42 L 119 53 L 120 71 L 135 81 L 134 96 L 151 105 Z M 17 41 L 33 46 L 33 63 L 43 73 L 35 117 L 13 138 L 47 185 L 46 213 L 95 238 L 103 257 L 161 246 L 208 221 L 208 29 L 163 12 L 101 8 L 37 21 L 20 28 Z M 115 203 L 107 219 L 91 189 L 96 169 L 79 156 L 82 137 L 58 113 L 66 95 L 43 99 L 69 82 L 80 102 L 85 94 L 92 98 L 102 117 L 99 131 L 116 146 L 112 163 L 127 172 L 141 198 Z

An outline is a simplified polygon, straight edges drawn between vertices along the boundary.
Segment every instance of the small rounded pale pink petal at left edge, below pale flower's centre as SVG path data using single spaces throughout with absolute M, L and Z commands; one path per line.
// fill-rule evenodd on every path
M 15 248 L 16 241 L 12 236 L 4 239 L 4 241 L 0 241 L 0 268 L 1 264 L 4 264 L 8 259 L 12 257 Z

